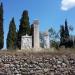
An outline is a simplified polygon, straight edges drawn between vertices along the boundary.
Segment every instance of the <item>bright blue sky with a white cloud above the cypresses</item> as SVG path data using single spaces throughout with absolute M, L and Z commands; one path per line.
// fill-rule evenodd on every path
M 12 17 L 15 18 L 16 27 L 23 10 L 29 11 L 30 24 L 39 19 L 40 31 L 46 31 L 53 27 L 56 31 L 64 24 L 67 18 L 68 24 L 75 29 L 75 0 L 0 0 L 4 5 L 4 48 Z M 72 32 L 75 35 L 75 30 Z

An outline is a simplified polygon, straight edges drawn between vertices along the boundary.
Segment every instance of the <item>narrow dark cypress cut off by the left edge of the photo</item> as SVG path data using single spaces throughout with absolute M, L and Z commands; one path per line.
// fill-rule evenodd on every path
M 0 49 L 4 45 L 4 31 L 3 31 L 3 4 L 0 5 Z

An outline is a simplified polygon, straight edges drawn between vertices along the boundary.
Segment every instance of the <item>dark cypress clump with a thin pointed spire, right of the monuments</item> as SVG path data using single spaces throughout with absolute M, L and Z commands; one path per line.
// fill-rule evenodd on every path
M 61 26 L 60 29 L 60 45 L 64 45 L 65 47 L 72 46 L 72 41 L 69 39 L 69 29 L 67 20 L 65 20 L 65 26 Z

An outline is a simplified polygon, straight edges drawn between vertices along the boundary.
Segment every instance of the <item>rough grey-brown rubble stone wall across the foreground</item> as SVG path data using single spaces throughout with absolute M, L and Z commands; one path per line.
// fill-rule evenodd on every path
M 0 75 L 75 75 L 75 55 L 1 55 Z

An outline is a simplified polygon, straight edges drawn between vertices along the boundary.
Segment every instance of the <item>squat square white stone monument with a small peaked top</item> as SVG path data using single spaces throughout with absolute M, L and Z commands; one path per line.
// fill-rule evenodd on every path
M 21 49 L 31 49 L 32 48 L 32 36 L 22 36 L 21 38 Z

